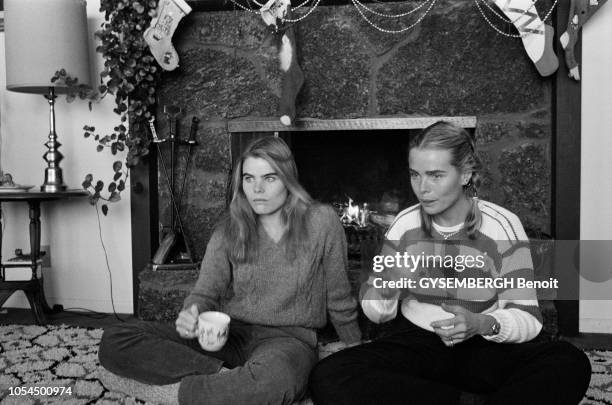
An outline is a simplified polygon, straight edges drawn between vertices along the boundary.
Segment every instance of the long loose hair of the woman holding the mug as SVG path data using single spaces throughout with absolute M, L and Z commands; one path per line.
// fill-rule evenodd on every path
M 230 256 L 234 261 L 244 263 L 252 261 L 257 251 L 257 214 L 251 208 L 242 189 L 244 161 L 250 157 L 264 159 L 268 162 L 287 188 L 287 199 L 281 208 L 280 217 L 287 229 L 286 252 L 290 258 L 295 257 L 300 239 L 306 232 L 306 213 L 313 200 L 298 182 L 297 166 L 289 146 L 281 138 L 273 136 L 251 142 L 234 167 L 229 217 L 224 223 Z

